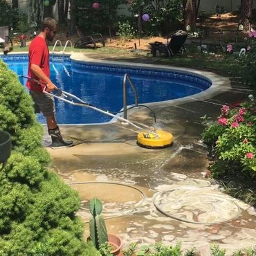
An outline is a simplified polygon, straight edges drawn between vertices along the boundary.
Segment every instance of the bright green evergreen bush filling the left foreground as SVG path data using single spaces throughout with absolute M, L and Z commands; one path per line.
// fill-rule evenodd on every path
M 33 101 L 1 60 L 0 74 L 0 130 L 13 145 L 0 172 L 0 255 L 98 255 L 75 216 L 77 192 L 48 170 Z

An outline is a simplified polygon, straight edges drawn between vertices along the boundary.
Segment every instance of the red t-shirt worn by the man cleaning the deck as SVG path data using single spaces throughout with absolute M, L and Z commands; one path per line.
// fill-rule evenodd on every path
M 29 46 L 28 60 L 28 77 L 39 80 L 39 78 L 31 71 L 31 64 L 35 64 L 42 68 L 45 75 L 50 77 L 49 50 L 44 38 L 37 36 L 33 39 Z M 44 84 L 40 86 L 33 80 L 28 80 L 26 86 L 31 91 L 43 91 L 44 89 Z

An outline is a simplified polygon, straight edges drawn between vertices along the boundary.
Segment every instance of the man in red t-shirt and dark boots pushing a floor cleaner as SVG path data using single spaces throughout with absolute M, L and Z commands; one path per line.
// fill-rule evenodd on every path
M 43 92 L 46 85 L 46 91 L 51 92 L 57 87 L 50 79 L 50 63 L 49 50 L 46 41 L 53 41 L 57 32 L 57 23 L 54 19 L 45 18 L 42 24 L 42 31 L 31 42 L 28 51 L 28 77 L 34 80 L 28 80 L 26 86 L 30 90 L 30 95 L 35 102 L 35 111 L 42 111 L 46 117 L 48 133 L 52 138 L 53 148 L 71 147 L 73 141 L 65 141 L 60 134 L 60 129 L 57 126 L 55 119 L 55 103 L 51 95 Z M 38 84 L 39 81 L 41 82 Z

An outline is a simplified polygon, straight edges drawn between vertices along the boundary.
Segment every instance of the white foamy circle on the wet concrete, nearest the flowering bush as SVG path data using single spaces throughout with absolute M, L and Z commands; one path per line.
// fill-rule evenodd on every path
M 241 212 L 230 196 L 215 190 L 195 187 L 159 192 L 154 196 L 154 205 L 168 217 L 201 224 L 230 221 Z

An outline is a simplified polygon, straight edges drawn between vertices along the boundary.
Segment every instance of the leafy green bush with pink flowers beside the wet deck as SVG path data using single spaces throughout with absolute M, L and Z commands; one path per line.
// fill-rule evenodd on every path
M 208 122 L 209 124 L 209 122 Z M 213 176 L 221 172 L 244 172 L 256 178 L 256 109 L 255 102 L 232 109 L 223 106 L 217 122 L 203 131 L 203 142 L 214 147 Z

